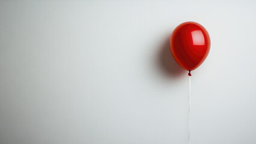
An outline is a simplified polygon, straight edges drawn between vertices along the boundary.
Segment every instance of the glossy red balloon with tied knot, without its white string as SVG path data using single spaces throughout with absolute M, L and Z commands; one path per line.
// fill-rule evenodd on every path
M 170 38 L 173 58 L 180 67 L 189 71 L 198 68 L 210 51 L 210 37 L 206 29 L 196 22 L 178 25 Z

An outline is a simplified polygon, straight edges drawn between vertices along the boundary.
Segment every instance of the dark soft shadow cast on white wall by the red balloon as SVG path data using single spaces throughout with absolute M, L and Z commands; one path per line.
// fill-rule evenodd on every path
M 186 70 L 183 70 L 183 68 L 181 68 L 172 57 L 171 50 L 169 48 L 169 38 L 170 35 L 166 37 L 165 41 L 159 47 L 158 64 L 160 66 L 160 70 L 162 70 L 165 76 L 173 79 L 184 76 Z

